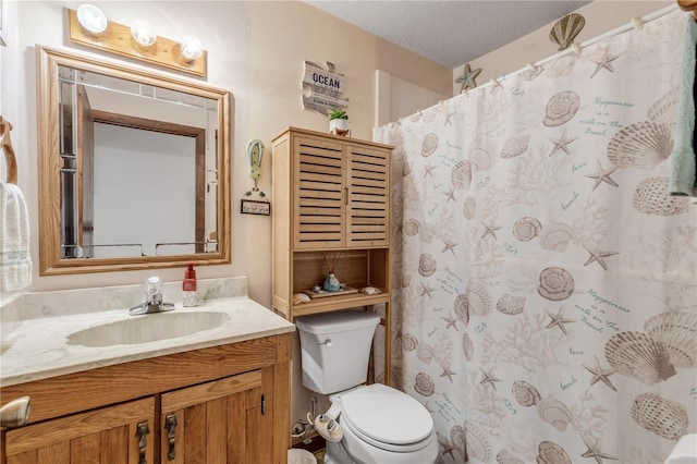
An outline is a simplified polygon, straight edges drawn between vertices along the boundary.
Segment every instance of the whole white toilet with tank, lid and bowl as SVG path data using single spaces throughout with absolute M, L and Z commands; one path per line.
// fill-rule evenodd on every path
M 439 445 L 429 412 L 391 387 L 365 384 L 372 334 L 380 318 L 364 310 L 299 317 L 303 384 L 328 394 L 327 415 L 341 441 L 327 441 L 327 464 L 429 464 Z

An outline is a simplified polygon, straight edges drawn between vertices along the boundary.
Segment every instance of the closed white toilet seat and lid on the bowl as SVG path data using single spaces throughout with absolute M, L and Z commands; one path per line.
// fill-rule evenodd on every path
M 360 440 L 393 452 L 413 452 L 430 442 L 433 419 L 421 403 L 381 383 L 341 396 L 340 423 Z

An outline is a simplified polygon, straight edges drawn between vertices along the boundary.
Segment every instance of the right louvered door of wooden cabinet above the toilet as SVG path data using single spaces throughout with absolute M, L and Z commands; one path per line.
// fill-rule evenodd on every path
M 390 151 L 347 147 L 348 211 L 346 246 L 378 247 L 390 243 Z

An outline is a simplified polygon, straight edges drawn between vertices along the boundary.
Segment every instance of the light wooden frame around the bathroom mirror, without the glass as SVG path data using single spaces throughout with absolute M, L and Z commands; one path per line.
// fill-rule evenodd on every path
M 69 66 L 112 77 L 135 81 L 218 101 L 218 251 L 192 255 L 134 256 L 114 258 L 62 258 L 60 194 L 59 66 Z M 230 113 L 231 94 L 197 82 L 134 69 L 124 63 L 100 61 L 73 52 L 37 46 L 39 274 L 157 269 L 231 262 L 230 252 Z

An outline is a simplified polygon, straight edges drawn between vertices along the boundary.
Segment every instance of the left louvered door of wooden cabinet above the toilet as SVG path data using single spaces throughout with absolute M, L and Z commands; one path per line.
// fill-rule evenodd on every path
M 295 249 L 345 245 L 346 186 L 343 146 L 295 137 L 293 155 L 293 237 Z

